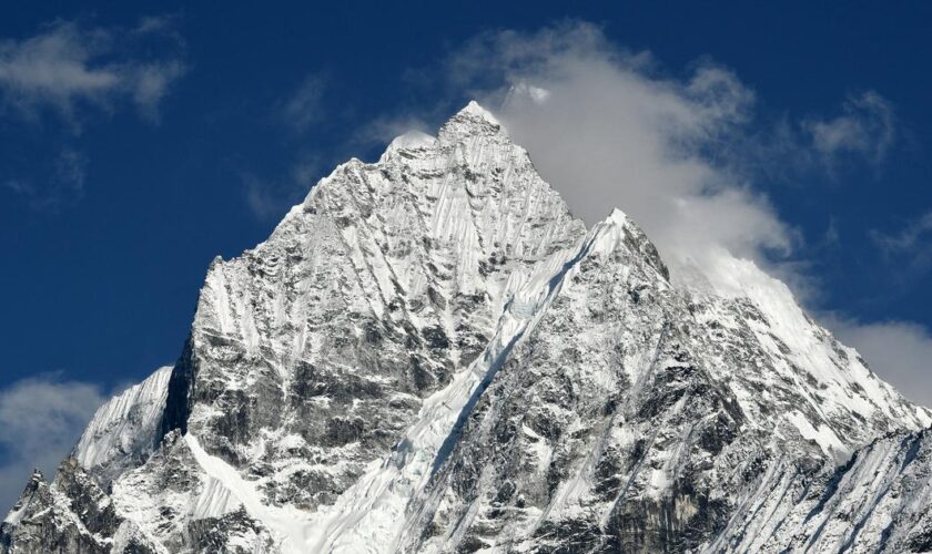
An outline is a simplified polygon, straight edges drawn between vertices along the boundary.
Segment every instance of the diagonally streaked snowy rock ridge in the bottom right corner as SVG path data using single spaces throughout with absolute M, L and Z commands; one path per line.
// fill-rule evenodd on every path
M 708 551 L 932 551 L 932 431 L 891 433 L 842 466 L 781 463 Z

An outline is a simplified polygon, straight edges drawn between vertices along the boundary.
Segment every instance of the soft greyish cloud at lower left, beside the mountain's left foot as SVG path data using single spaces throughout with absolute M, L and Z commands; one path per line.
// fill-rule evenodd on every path
M 98 386 L 59 375 L 0 390 L 0 511 L 16 502 L 33 468 L 52 478 L 104 400 Z

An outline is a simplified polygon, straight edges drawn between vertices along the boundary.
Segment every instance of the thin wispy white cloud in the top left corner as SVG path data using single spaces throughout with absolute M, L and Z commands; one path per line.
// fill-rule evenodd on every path
M 138 50 L 136 40 L 161 32 L 166 24 L 151 19 L 132 32 L 59 21 L 34 37 L 4 40 L 0 98 L 8 110 L 27 117 L 51 107 L 74 124 L 81 106 L 113 110 L 122 101 L 155 119 L 160 101 L 183 74 L 184 64 L 178 58 L 149 60 L 132 52 Z

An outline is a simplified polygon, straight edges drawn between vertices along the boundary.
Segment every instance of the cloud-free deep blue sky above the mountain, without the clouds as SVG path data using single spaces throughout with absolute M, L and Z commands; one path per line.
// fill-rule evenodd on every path
M 80 134 L 50 112 L 38 122 L 0 119 L 0 182 L 41 181 L 63 146 L 88 158 L 83 196 L 59 209 L 34 209 L 0 187 L 0 388 L 49 371 L 113 387 L 171 363 L 211 259 L 254 246 L 277 220 L 250 209 L 249 178 L 278 183 L 287 196 L 281 183 L 301 156 L 317 161 L 312 181 L 351 155 L 376 157 L 377 144 L 354 141 L 367 122 L 450 95 L 412 84 L 412 75 L 436 71 L 479 32 L 564 18 L 604 25 L 612 41 L 650 50 L 675 74 L 711 58 L 756 91 L 762 117 L 837 114 L 847 94 L 865 90 L 889 100 L 898 141 L 879 170 L 855 164 L 764 186 L 809 245 L 800 256 L 814 259 L 824 285 L 820 308 L 932 327 L 932 276 L 885 260 L 869 235 L 932 209 L 932 4 L 6 4 L 0 38 L 9 40 L 57 19 L 111 28 L 174 14 L 188 71 L 158 124 L 132 110 L 87 110 Z M 277 114 L 308 75 L 326 82 L 325 110 L 296 132 Z M 456 95 L 450 106 L 467 100 Z M 839 242 L 819 247 L 831 222 Z

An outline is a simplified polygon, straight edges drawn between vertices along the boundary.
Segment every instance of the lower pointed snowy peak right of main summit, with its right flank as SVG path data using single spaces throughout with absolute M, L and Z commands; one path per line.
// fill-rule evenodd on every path
M 796 365 L 772 306 L 671 287 L 619 213 L 591 234 L 413 503 L 402 550 L 717 550 L 772 468 L 833 468 L 928 423 L 812 322 L 792 332 L 828 367 Z

